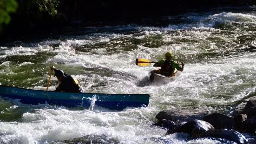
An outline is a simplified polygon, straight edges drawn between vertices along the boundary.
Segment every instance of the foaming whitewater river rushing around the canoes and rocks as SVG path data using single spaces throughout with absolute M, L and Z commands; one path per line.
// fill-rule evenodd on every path
M 150 127 L 159 111 L 208 107 L 225 114 L 256 93 L 256 7 L 184 13 L 118 26 L 66 28 L 47 39 L 0 45 L 0 85 L 46 90 L 50 66 L 64 70 L 85 92 L 146 93 L 148 107 L 111 111 L 40 104 L 0 97 L 1 144 L 205 144 L 189 135 Z M 169 83 L 149 84 L 154 67 L 135 59 L 185 63 Z M 52 77 L 49 91 L 58 80 Z M 248 137 L 248 136 L 247 136 Z

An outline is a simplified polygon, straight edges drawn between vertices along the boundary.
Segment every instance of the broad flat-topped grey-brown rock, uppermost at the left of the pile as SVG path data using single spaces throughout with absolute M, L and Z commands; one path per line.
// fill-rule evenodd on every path
M 156 115 L 156 118 L 172 121 L 191 121 L 194 119 L 202 119 L 209 113 L 210 111 L 208 111 L 206 108 L 189 106 L 160 111 Z

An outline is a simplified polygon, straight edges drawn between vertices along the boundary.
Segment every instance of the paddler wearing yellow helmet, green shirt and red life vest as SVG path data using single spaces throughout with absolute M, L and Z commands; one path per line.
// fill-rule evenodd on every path
M 183 71 L 184 70 L 184 63 L 178 63 L 177 61 L 171 60 L 173 57 L 173 54 L 171 52 L 166 52 L 165 53 L 165 59 L 162 59 L 158 61 L 158 63 L 154 64 L 154 67 L 159 67 L 161 66 L 160 73 L 164 76 L 171 77 L 172 74 L 174 73 L 175 69 L 178 71 Z M 182 66 L 180 66 L 182 65 Z

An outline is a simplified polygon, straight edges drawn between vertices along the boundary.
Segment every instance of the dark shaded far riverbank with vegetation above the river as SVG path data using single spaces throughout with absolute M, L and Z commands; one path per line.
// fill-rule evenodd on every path
M 256 0 L 0 0 L 0 41 L 57 35 L 66 26 L 136 23 L 143 18 L 255 4 Z

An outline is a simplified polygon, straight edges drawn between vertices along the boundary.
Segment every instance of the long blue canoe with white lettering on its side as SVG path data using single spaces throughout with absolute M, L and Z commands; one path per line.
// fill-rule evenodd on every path
M 95 105 L 110 110 L 123 110 L 126 107 L 148 106 L 148 94 L 103 94 L 103 93 L 72 93 L 53 92 L 24 89 L 0 85 L 0 96 L 20 99 L 22 104 L 38 105 L 63 105 L 67 107 L 90 107 L 92 99 L 96 98 Z

